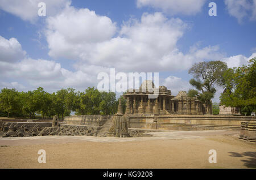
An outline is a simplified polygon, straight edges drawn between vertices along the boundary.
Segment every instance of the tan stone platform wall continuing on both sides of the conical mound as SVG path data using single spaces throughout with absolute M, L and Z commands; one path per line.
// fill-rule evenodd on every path
M 126 114 L 129 128 L 152 130 L 240 130 L 241 122 L 256 121 L 255 117 L 241 115 L 163 115 L 163 114 Z M 102 120 L 103 119 L 103 120 Z M 111 119 L 101 115 L 65 117 L 64 122 L 73 125 L 104 126 Z

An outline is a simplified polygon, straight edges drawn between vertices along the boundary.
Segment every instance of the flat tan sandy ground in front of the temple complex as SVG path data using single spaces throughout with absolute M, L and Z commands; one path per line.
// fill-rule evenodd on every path
M 256 144 L 236 131 L 162 131 L 152 137 L 0 138 L 0 168 L 256 168 Z M 38 151 L 46 151 L 39 164 Z M 217 163 L 208 161 L 217 151 Z

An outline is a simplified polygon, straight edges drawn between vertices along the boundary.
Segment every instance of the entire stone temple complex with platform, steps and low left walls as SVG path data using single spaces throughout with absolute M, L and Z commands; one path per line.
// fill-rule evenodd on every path
M 152 91 L 154 90 L 154 91 Z M 158 92 L 158 96 L 154 96 Z M 256 142 L 256 118 L 225 114 L 212 115 L 212 108 L 180 91 L 172 96 L 164 86 L 154 87 L 145 81 L 139 89 L 124 93 L 126 112 L 122 112 L 121 99 L 114 115 L 72 115 L 59 122 L 29 119 L 0 119 L 0 136 L 88 135 L 136 137 L 155 130 L 241 130 L 240 139 Z M 150 98 L 148 98 L 150 97 Z M 153 98 L 152 98 L 153 97 Z M 125 113 L 125 114 L 123 114 Z

